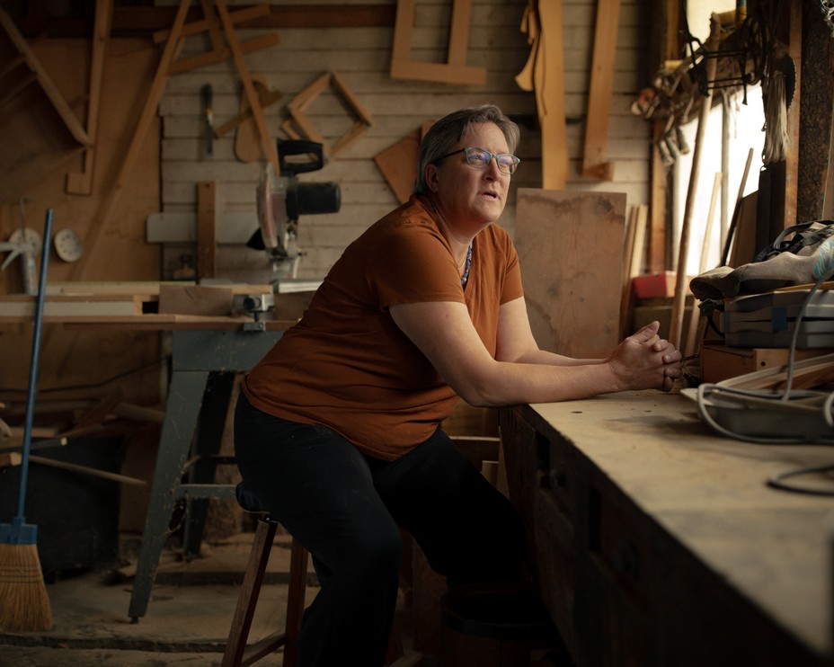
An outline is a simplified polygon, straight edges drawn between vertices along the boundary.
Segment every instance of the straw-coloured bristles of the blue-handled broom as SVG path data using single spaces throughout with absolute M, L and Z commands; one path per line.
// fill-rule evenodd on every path
M 46 584 L 34 544 L 0 544 L 0 630 L 38 632 L 52 627 Z

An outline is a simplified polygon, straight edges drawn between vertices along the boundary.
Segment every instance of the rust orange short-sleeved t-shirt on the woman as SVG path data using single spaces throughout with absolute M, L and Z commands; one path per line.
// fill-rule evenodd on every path
M 324 424 L 394 460 L 427 440 L 458 397 L 388 307 L 466 303 L 494 356 L 499 308 L 522 296 L 519 260 L 495 224 L 475 237 L 466 288 L 428 200 L 415 196 L 351 243 L 298 323 L 244 378 L 263 412 Z

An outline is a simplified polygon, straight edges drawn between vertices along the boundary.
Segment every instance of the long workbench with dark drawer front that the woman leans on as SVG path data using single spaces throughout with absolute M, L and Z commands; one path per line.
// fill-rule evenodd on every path
M 719 437 L 655 391 L 504 409 L 501 435 L 577 665 L 832 664 L 834 498 L 767 479 L 834 449 Z

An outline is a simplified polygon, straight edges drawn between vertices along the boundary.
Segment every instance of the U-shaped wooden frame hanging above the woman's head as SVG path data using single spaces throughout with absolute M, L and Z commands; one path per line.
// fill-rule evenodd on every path
M 398 0 L 396 5 L 391 78 L 437 81 L 441 84 L 485 84 L 486 69 L 466 65 L 471 0 L 453 0 L 446 63 L 414 62 L 411 59 L 415 4 L 416 0 Z

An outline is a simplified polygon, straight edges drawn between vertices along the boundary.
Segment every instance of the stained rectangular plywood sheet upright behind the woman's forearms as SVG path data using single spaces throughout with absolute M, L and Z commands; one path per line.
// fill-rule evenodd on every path
M 539 347 L 607 356 L 619 342 L 625 194 L 519 188 L 515 244 Z

